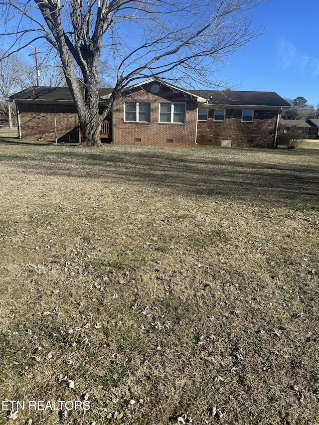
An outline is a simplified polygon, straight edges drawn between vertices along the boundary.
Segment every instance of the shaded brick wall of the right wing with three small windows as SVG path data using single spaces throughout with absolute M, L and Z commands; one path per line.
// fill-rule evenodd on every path
M 224 122 L 213 121 L 214 110 L 208 111 L 208 121 L 199 121 L 198 144 L 220 146 L 231 140 L 232 146 L 272 147 L 278 111 L 255 110 L 253 122 L 241 122 L 242 110 L 226 110 Z

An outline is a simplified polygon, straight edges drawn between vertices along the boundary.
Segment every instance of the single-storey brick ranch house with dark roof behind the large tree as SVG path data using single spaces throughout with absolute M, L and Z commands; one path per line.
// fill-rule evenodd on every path
M 100 89 L 103 108 L 112 89 Z M 67 87 L 31 87 L 11 95 L 19 138 L 81 142 Z M 114 102 L 101 139 L 114 144 L 276 147 L 280 115 L 291 106 L 275 92 L 184 90 L 156 78 Z

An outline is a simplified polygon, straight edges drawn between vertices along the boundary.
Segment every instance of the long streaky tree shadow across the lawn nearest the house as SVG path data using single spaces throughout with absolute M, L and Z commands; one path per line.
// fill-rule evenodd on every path
M 164 149 L 114 151 L 111 148 L 102 153 L 74 149 L 46 151 L 43 156 L 35 155 L 33 160 L 21 155 L 21 159 L 24 172 L 45 176 L 96 178 L 105 184 L 139 184 L 172 195 L 201 195 L 319 210 L 319 168 L 314 161 L 307 164 L 310 155 L 319 158 L 318 150 L 311 154 L 309 149 L 276 152 L 275 157 L 271 155 L 274 151 L 267 150 L 260 158 L 260 151 L 238 152 L 236 155 L 209 150 L 203 155 L 197 151 L 194 156 L 191 153 L 179 156 L 177 150 Z M 301 163 L 294 160 L 296 157 L 306 159 Z M 21 162 L 18 166 L 21 168 Z

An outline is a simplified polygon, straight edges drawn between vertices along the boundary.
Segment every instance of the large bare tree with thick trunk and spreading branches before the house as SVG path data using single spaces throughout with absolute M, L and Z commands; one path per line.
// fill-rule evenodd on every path
M 0 5 L 6 23 L 16 25 L 12 31 L 8 27 L 3 31 L 13 37 L 8 53 L 40 40 L 57 51 L 83 142 L 98 146 L 102 122 L 123 88 L 154 76 L 183 83 L 202 81 L 213 64 L 260 34 L 260 28 L 251 27 L 250 12 L 265 1 L 0 0 Z M 25 25 L 26 19 L 31 25 Z M 112 64 L 115 80 L 99 113 L 101 56 Z

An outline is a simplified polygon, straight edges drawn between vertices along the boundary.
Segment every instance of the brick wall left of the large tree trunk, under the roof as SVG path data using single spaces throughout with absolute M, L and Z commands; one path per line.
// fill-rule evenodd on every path
M 73 105 L 19 103 L 19 113 L 22 139 L 55 141 L 55 116 L 58 141 L 69 142 L 70 135 L 78 142 L 79 119 Z

